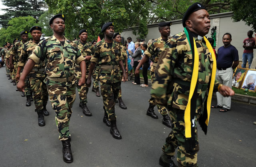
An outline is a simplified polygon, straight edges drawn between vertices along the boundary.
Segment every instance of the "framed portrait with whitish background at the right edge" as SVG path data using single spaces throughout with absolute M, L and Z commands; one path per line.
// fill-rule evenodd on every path
M 241 89 L 248 89 L 248 91 L 256 91 L 255 85 L 256 85 L 256 70 L 248 69 L 245 74 Z

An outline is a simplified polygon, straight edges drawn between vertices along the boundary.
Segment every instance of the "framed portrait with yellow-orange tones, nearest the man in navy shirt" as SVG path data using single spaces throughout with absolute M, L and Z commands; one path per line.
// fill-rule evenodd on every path
M 240 88 L 247 72 L 247 68 L 237 67 L 232 78 L 232 87 Z

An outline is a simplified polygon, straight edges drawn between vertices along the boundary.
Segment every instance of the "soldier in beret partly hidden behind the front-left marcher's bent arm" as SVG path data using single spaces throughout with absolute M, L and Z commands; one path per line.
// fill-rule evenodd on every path
M 28 56 L 30 56 L 36 47 L 36 45 L 40 42 L 40 38 L 42 35 L 42 28 L 39 26 L 33 26 L 29 30 L 33 40 L 26 42 L 22 46 L 21 54 L 18 62 L 18 71 L 20 68 L 23 68 L 25 63 L 28 61 Z M 39 64 L 36 64 L 32 71 L 30 72 L 29 82 L 31 90 L 33 91 L 33 98 L 35 103 L 35 111 L 38 114 L 38 125 L 44 126 L 44 115 L 49 115 L 49 112 L 46 109 L 47 101 L 48 101 L 48 92 L 46 84 L 44 83 L 44 79 L 46 75 L 44 73 L 45 62 L 40 61 Z M 17 72 L 16 80 L 19 80 L 20 74 Z

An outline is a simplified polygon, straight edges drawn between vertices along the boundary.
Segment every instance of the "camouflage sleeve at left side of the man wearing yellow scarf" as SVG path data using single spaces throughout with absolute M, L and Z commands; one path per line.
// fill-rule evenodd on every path
M 155 98 L 159 105 L 167 105 L 167 90 L 172 80 L 172 71 L 178 60 L 178 52 L 176 50 L 177 43 L 170 41 L 164 46 L 160 54 L 158 65 L 155 70 L 154 83 L 151 87 L 151 96 Z

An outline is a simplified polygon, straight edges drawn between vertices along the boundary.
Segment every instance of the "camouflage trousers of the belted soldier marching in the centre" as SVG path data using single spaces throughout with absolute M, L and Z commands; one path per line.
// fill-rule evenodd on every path
M 121 82 L 105 83 L 100 82 L 100 90 L 103 98 L 104 108 L 108 113 L 108 120 L 115 121 L 115 104 L 120 89 Z

